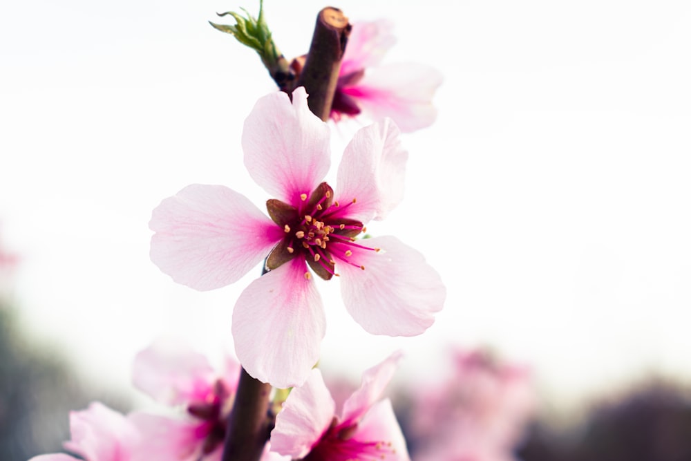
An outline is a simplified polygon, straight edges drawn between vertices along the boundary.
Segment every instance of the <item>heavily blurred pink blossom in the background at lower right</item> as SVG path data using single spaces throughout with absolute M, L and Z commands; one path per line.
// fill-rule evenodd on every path
M 451 378 L 415 393 L 410 433 L 420 461 L 513 461 L 535 411 L 527 368 L 456 351 Z

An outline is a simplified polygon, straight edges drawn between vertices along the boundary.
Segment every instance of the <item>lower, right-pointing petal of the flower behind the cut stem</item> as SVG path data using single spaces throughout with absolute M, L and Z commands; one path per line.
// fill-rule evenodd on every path
M 409 133 L 430 126 L 437 117 L 432 99 L 442 74 L 424 64 L 386 64 L 366 73 L 356 85 L 341 88 L 372 117 L 391 117 Z

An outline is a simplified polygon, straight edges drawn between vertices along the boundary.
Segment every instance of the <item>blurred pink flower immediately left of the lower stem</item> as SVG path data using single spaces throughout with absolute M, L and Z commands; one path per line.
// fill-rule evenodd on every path
M 153 399 L 184 406 L 184 415 L 133 413 L 142 434 L 134 461 L 220 461 L 225 421 L 240 364 L 227 358 L 216 373 L 205 357 L 180 341 L 160 339 L 135 357 L 134 384 Z

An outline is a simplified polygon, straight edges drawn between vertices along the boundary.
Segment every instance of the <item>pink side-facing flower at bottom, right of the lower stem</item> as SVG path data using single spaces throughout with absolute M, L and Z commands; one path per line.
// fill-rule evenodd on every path
M 305 461 L 409 461 L 390 400 L 377 402 L 399 358 L 392 355 L 363 373 L 361 387 L 345 401 L 341 417 L 335 415 L 321 372 L 312 370 L 276 416 L 272 450 Z

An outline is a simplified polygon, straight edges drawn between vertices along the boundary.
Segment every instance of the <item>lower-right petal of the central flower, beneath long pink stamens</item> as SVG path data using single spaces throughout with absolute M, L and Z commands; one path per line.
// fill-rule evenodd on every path
M 383 236 L 359 241 L 380 252 L 352 247 L 351 261 L 365 267 L 338 264 L 343 303 L 353 319 L 374 335 L 415 336 L 434 323 L 446 288 L 424 256 L 397 238 Z

